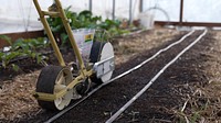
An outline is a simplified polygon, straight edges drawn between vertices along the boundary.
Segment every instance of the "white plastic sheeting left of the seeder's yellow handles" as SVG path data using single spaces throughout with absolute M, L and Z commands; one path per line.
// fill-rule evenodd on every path
M 39 30 L 36 13 L 31 0 L 1 0 L 0 32 Z

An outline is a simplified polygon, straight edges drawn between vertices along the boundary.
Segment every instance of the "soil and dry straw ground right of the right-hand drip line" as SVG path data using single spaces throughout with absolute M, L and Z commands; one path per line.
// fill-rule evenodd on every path
M 221 64 L 220 58 L 215 57 L 219 57 L 218 53 L 221 52 L 219 45 L 220 41 L 217 41 L 214 36 L 215 33 L 210 32 L 197 43 L 196 46 L 181 56 L 176 64 L 169 67 L 156 80 L 144 96 L 116 120 L 116 122 L 219 123 L 219 109 L 221 103 L 220 94 L 218 93 L 220 93 Z M 169 57 L 170 56 L 166 55 L 166 58 Z M 214 68 L 214 65 L 218 68 Z M 211 69 L 211 66 L 213 66 L 213 69 Z M 148 69 L 148 67 L 144 67 L 135 72 L 137 72 L 137 75 L 144 75 L 144 72 L 147 71 L 146 69 Z M 212 80 L 211 75 L 208 72 L 212 72 Z M 131 78 L 130 80 L 137 80 L 137 83 L 139 82 L 140 85 L 143 81 L 147 83 L 149 79 L 147 76 L 143 76 L 141 79 L 138 77 L 134 80 Z M 214 85 L 211 83 L 211 81 L 213 81 Z

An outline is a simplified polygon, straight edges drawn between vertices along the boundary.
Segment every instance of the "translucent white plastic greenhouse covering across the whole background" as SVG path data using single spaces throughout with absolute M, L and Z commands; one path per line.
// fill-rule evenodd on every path
M 39 0 L 45 10 L 52 0 Z M 90 0 L 61 0 L 64 8 L 72 5 L 72 11 L 88 10 Z M 113 0 L 92 0 L 93 13 L 103 19 L 112 19 Z M 116 19 L 128 19 L 129 1 L 116 1 Z M 139 0 L 133 1 L 133 19 L 139 18 Z M 179 21 L 180 0 L 143 0 L 144 11 L 158 21 Z M 39 15 L 32 0 L 1 0 L 0 34 L 42 30 Z M 185 22 L 221 22 L 221 0 L 185 0 Z

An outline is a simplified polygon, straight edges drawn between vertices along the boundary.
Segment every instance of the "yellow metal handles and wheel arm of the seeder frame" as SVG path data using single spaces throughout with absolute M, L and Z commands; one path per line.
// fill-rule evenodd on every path
M 42 92 L 34 92 L 33 93 L 33 96 L 38 100 L 53 101 L 53 100 L 55 100 L 57 98 L 63 97 L 70 89 L 73 89 L 76 83 L 81 82 L 86 77 L 92 76 L 93 75 L 93 70 L 86 70 L 86 68 L 85 68 L 83 58 L 82 58 L 82 56 L 80 54 L 78 47 L 77 47 L 76 42 L 74 40 L 73 32 L 72 32 L 72 29 L 70 26 L 70 22 L 69 22 L 66 15 L 65 15 L 65 12 L 64 12 L 64 10 L 62 8 L 62 4 L 61 4 L 60 0 L 54 0 L 55 5 L 56 5 L 56 11 L 53 11 L 53 12 L 51 12 L 51 11 L 42 11 L 41 7 L 39 4 L 39 1 L 38 0 L 33 0 L 33 2 L 34 2 L 34 5 L 35 5 L 35 8 L 38 10 L 38 13 L 40 15 L 40 20 L 41 20 L 41 22 L 42 22 L 42 24 L 44 26 L 44 30 L 46 31 L 46 34 L 49 36 L 49 40 L 50 40 L 50 42 L 52 44 L 52 47 L 53 47 L 53 49 L 55 52 L 55 55 L 56 55 L 56 58 L 57 58 L 60 65 L 62 67 L 66 66 L 65 63 L 64 63 L 63 56 L 62 56 L 62 54 L 61 54 L 61 52 L 59 49 L 59 46 L 57 46 L 57 44 L 55 42 L 55 38 L 54 38 L 53 34 L 52 34 L 51 27 L 50 27 L 50 25 L 49 25 L 49 23 L 48 23 L 48 21 L 45 19 L 46 15 L 49 15 L 49 16 L 57 16 L 57 18 L 62 19 L 63 25 L 64 25 L 64 27 L 66 30 L 66 33 L 67 33 L 69 38 L 70 38 L 70 42 L 72 44 L 72 48 L 73 48 L 73 51 L 75 53 L 75 56 L 76 56 L 76 58 L 78 60 L 78 64 L 80 64 L 80 71 L 81 71 L 80 76 L 77 76 L 70 85 L 67 85 L 67 87 L 65 89 L 63 89 L 60 92 L 54 93 L 54 94 L 42 93 Z

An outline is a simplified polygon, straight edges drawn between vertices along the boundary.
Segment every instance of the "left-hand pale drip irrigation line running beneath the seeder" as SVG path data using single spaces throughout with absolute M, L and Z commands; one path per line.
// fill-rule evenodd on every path
M 134 68 L 116 76 L 115 78 L 108 80 L 105 83 L 102 83 L 101 86 L 98 86 L 97 88 L 93 89 L 90 93 L 87 93 L 87 96 L 83 97 L 81 100 L 78 100 L 76 103 L 67 107 L 66 109 L 62 110 L 61 112 L 59 112 L 57 114 L 55 114 L 54 116 L 52 116 L 51 119 L 49 119 L 48 121 L 45 121 L 44 123 L 52 123 L 53 121 L 55 121 L 56 119 L 59 119 L 60 116 L 62 116 L 63 114 L 65 114 L 66 112 L 69 112 L 71 109 L 73 109 L 74 107 L 78 105 L 80 103 L 82 103 L 84 100 L 86 100 L 87 98 L 90 98 L 93 93 L 95 93 L 97 90 L 99 90 L 101 88 L 103 88 L 104 86 L 130 74 L 131 71 L 143 67 L 145 64 L 147 64 L 148 62 L 150 62 L 151 59 L 156 58 L 159 54 L 161 54 L 162 52 L 166 52 L 167 49 L 171 48 L 172 46 L 181 43 L 182 41 L 185 41 L 188 36 L 190 36 L 192 33 L 194 33 L 194 30 L 192 30 L 191 32 L 189 32 L 188 34 L 186 34 L 185 36 L 182 36 L 179 41 L 170 44 L 169 46 L 167 46 L 166 48 L 160 49 L 159 52 L 157 52 L 155 55 L 152 55 L 151 57 L 149 57 L 148 59 L 146 59 L 145 62 L 140 63 L 139 65 L 135 66 Z

